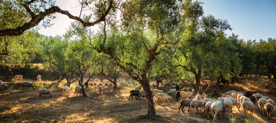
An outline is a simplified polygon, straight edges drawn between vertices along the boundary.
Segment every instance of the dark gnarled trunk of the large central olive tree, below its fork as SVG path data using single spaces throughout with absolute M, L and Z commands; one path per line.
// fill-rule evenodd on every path
M 153 95 L 151 93 L 151 89 L 149 87 L 148 84 L 148 79 L 147 78 L 143 78 L 142 82 L 140 82 L 140 84 L 142 85 L 143 89 L 146 92 L 146 97 L 148 99 L 148 118 L 150 119 L 156 119 L 156 113 L 155 113 L 155 109 L 154 109 L 154 102 L 153 102 Z

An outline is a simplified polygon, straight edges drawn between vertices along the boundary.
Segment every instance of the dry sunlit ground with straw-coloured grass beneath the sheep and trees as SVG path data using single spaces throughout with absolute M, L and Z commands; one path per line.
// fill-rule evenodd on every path
M 252 91 L 263 93 L 265 96 L 272 97 L 276 102 L 275 90 L 269 90 L 263 82 L 266 78 L 251 80 L 242 78 L 242 83 L 231 84 L 230 86 L 221 85 L 221 93 L 235 89 L 237 91 Z M 33 80 L 34 81 L 34 80 Z M 9 82 L 5 82 L 9 83 Z M 269 86 L 270 87 L 270 86 Z M 265 89 L 266 88 L 266 89 Z M 53 93 L 52 98 L 39 98 L 38 89 L 29 90 L 4 90 L 0 91 L 0 122 L 2 123 L 24 123 L 24 122 L 55 122 L 55 123 L 90 123 L 93 120 L 99 123 L 110 122 L 165 122 L 165 123 L 208 123 L 212 122 L 213 116 L 206 118 L 206 115 L 193 111 L 188 113 L 188 107 L 184 112 L 178 113 L 179 102 L 158 101 L 155 104 L 156 113 L 160 116 L 156 120 L 142 119 L 147 113 L 146 100 L 128 100 L 129 89 L 120 87 L 113 90 L 105 88 L 102 94 L 98 94 L 98 89 L 94 87 L 85 88 L 88 97 L 62 96 L 62 87 L 50 89 Z M 207 93 L 208 95 L 208 93 Z M 181 109 L 180 109 L 181 110 Z M 246 114 L 252 123 L 274 123 L 276 122 L 276 106 L 272 113 L 272 120 L 267 121 L 266 114 L 263 116 L 259 110 L 250 116 Z M 245 122 L 243 113 L 233 107 L 233 115 L 238 117 L 239 122 Z M 228 114 L 222 114 L 222 119 L 217 118 L 217 122 L 230 122 Z

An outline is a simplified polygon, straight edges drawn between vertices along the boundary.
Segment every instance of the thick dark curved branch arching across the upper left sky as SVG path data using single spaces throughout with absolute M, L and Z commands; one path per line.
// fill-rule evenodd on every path
M 77 16 L 73 16 L 68 11 L 61 10 L 58 6 L 52 6 L 48 9 L 46 9 L 44 12 L 35 15 L 28 7 L 28 5 L 32 3 L 31 1 L 24 5 L 25 9 L 28 11 L 28 13 L 31 15 L 32 19 L 28 23 L 24 23 L 22 26 L 18 26 L 15 29 L 4 29 L 0 30 L 0 36 L 17 36 L 23 34 L 25 30 L 28 30 L 34 26 L 36 26 L 41 20 L 44 19 L 45 16 L 53 13 L 61 13 L 67 15 L 69 18 L 74 19 L 76 21 L 79 21 L 82 23 L 83 26 L 94 26 L 95 24 L 98 24 L 99 22 L 102 22 L 105 20 L 105 17 L 109 13 L 109 10 L 112 8 L 113 0 L 110 0 L 109 7 L 105 11 L 105 13 L 102 14 L 102 16 L 94 21 L 94 22 L 85 22 L 81 18 Z

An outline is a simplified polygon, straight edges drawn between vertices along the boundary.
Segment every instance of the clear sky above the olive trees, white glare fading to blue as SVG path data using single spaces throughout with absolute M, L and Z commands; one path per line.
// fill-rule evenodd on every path
M 276 38 L 276 0 L 202 0 L 204 14 L 212 14 L 216 18 L 228 20 L 233 28 L 226 31 L 228 35 L 238 34 L 239 38 L 247 41 Z M 79 16 L 80 6 L 77 0 L 57 0 L 56 5 L 62 10 L 68 10 L 72 15 Z M 74 8 L 75 7 L 75 8 Z M 82 14 L 89 14 L 89 10 Z M 53 26 L 41 27 L 39 33 L 47 36 L 62 35 L 74 20 L 66 15 L 55 14 L 51 21 Z M 92 29 L 97 30 L 94 26 Z

